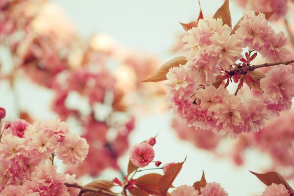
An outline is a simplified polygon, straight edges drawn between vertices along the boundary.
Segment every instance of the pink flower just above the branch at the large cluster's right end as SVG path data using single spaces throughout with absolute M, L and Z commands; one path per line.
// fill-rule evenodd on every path
M 285 48 L 288 39 L 284 32 L 276 34 L 272 32 L 270 39 L 265 43 L 264 48 L 259 51 L 261 55 L 269 62 L 283 61 L 286 55 L 290 54 L 290 51 Z

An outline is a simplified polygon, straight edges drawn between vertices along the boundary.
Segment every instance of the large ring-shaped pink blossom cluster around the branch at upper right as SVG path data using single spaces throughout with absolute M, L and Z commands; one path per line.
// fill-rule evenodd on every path
M 221 18 L 200 19 L 182 39 L 188 50 L 187 63 L 166 74 L 166 101 L 188 126 L 236 137 L 241 132 L 257 132 L 266 120 L 292 105 L 291 65 L 277 65 L 257 77 L 259 72 L 250 64 L 257 56 L 253 51 L 270 62 L 285 59 L 290 53 L 285 34 L 275 33 L 263 13 L 246 12 L 238 25 L 234 32 Z M 247 47 L 249 52 L 243 57 Z M 233 81 L 239 84 L 231 95 L 226 87 Z M 257 86 L 262 96 L 241 102 L 237 93 L 244 82 L 250 88 Z

